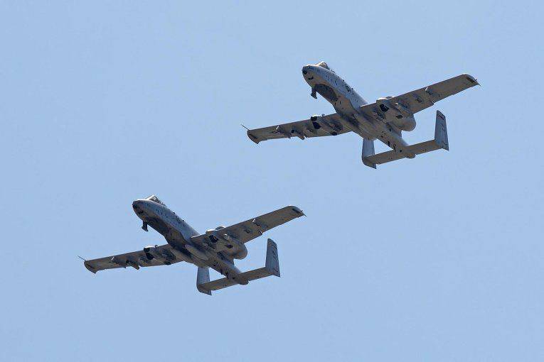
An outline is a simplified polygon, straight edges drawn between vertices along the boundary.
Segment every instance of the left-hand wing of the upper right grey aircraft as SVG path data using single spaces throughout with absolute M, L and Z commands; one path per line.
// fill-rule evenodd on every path
M 314 118 L 314 117 L 312 117 Z M 247 136 L 251 141 L 273 140 L 276 138 L 291 138 L 293 136 L 304 139 L 306 137 L 336 136 L 350 130 L 342 125 L 339 114 L 318 116 L 316 119 L 304 119 L 304 121 L 279 124 L 264 128 L 247 130 Z

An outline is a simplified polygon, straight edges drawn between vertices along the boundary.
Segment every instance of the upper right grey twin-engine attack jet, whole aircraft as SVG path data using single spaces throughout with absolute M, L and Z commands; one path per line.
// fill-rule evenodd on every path
M 296 136 L 304 140 L 306 137 L 337 136 L 353 131 L 363 138 L 361 158 L 371 168 L 401 158 L 415 158 L 415 155 L 439 148 L 448 150 L 446 118 L 440 111 L 437 111 L 433 140 L 410 146 L 402 138 L 402 131 L 412 131 L 415 128 L 414 114 L 417 112 L 479 84 L 471 75 L 458 75 L 397 97 L 378 98 L 375 103 L 368 104 L 325 62 L 302 67 L 302 75 L 311 87 L 311 97 L 317 99 L 317 94 L 321 94 L 334 106 L 336 113 L 311 116 L 304 121 L 247 129 L 247 136 L 253 142 L 259 143 L 275 138 Z M 376 139 L 392 150 L 375 154 Z

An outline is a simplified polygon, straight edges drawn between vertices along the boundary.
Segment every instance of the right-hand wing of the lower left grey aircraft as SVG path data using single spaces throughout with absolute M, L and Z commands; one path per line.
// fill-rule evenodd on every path
M 276 226 L 285 224 L 287 221 L 297 219 L 297 217 L 304 216 L 304 212 L 296 206 L 287 206 L 276 211 L 269 212 L 268 214 L 260 215 L 252 219 L 242 221 L 238 224 L 227 226 L 223 229 L 214 230 L 216 234 L 228 234 L 237 238 L 242 243 L 258 238 L 267 230 L 270 230 Z M 193 236 L 191 241 L 196 243 L 208 243 L 210 235 L 202 234 Z

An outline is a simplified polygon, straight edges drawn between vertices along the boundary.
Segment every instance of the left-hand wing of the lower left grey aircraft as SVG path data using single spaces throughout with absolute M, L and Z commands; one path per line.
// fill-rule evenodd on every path
M 96 273 L 99 270 L 115 269 L 115 268 L 132 268 L 139 269 L 140 267 L 156 266 L 156 265 L 170 265 L 178 263 L 181 260 L 176 258 L 173 249 L 168 244 L 156 246 L 152 248 L 151 259 L 146 253 L 141 251 L 132 251 L 131 253 L 118 254 L 114 256 L 106 256 L 104 258 L 85 260 L 85 268 L 92 273 Z

